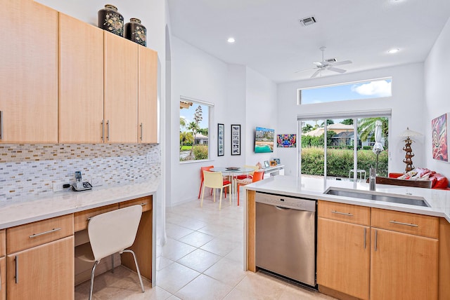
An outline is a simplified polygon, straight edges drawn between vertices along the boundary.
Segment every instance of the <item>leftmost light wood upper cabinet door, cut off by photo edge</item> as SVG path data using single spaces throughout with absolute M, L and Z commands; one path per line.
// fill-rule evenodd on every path
M 0 142 L 58 142 L 58 12 L 2 0 Z

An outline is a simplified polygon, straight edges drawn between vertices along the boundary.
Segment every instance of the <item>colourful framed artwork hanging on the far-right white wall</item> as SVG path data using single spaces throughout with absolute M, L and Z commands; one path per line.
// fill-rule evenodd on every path
M 449 161 L 447 150 L 447 114 L 431 120 L 432 155 L 438 161 Z

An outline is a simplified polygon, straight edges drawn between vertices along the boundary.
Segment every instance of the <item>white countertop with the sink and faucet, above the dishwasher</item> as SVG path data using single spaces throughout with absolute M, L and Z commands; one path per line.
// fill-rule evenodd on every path
M 262 191 L 265 193 L 276 193 L 285 196 L 329 200 L 339 203 L 370 206 L 383 208 L 385 210 L 397 210 L 401 212 L 412 212 L 415 214 L 428 214 L 430 216 L 444 217 L 450 222 L 450 191 L 439 189 L 420 189 L 409 186 L 392 186 L 377 184 L 375 193 L 391 193 L 401 196 L 423 197 L 430 207 L 406 205 L 400 203 L 389 203 L 377 200 L 366 200 L 359 198 L 326 195 L 323 192 L 330 186 L 369 191 L 369 184 L 340 181 L 335 179 L 307 178 L 294 176 L 274 176 L 259 182 L 248 184 L 245 189 Z

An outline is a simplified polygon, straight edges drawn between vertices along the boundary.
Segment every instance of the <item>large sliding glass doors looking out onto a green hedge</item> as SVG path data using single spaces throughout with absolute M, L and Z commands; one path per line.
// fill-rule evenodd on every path
M 298 117 L 300 174 L 365 182 L 374 167 L 378 176 L 387 177 L 390 111 L 344 114 L 341 118 L 336 117 L 338 114 Z M 374 151 L 376 125 L 381 134 L 376 141 L 379 151 Z

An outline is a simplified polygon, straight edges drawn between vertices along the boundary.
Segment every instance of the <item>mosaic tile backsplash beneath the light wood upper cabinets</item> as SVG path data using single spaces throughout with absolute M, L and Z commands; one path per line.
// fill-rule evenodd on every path
M 129 184 L 161 175 L 159 144 L 0 144 L 0 200 L 53 193 L 54 182 Z

